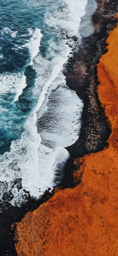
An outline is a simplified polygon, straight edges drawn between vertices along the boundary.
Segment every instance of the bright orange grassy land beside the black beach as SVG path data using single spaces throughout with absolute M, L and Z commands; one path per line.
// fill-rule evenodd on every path
M 59 190 L 17 224 L 18 256 L 118 255 L 118 26 L 97 65 L 98 95 L 108 118 L 108 148 L 81 159 L 74 189 Z

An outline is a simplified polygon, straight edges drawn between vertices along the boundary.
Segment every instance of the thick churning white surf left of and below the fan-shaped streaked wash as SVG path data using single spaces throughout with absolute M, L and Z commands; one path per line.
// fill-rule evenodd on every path
M 53 47 L 55 46 L 50 41 L 51 48 L 52 45 Z M 24 192 L 24 189 L 29 191 L 30 196 L 35 198 L 42 195 L 47 188 L 50 187 L 52 189 L 52 186 L 56 185 L 56 181 L 54 181 L 55 175 L 56 180 L 58 182 L 61 181 L 65 163 L 69 159 L 68 151 L 60 147 L 59 143 L 54 148 L 42 145 L 36 126 L 37 116 L 38 118 L 41 117 L 47 110 L 46 103 L 48 102 L 48 97 L 46 94 L 50 95 L 51 90 L 59 85 L 59 81 L 62 83 L 62 80 L 59 77 L 57 78 L 57 76 L 63 69 L 63 63 L 67 60 L 69 47 L 66 45 L 63 51 L 61 51 L 62 49 L 61 47 L 61 55 L 56 54 L 55 49 L 52 50 L 52 62 L 42 58 L 41 55 L 35 58 L 35 65 L 33 66 L 37 72 L 35 93 L 39 94 L 37 106 L 25 122 L 25 131 L 21 139 L 12 141 L 10 152 L 6 152 L 0 157 L 0 180 L 3 182 L 1 190 L 3 194 L 9 194 L 10 190 L 12 191 L 13 199 L 10 198 L 10 203 L 12 204 L 20 205 L 22 201 L 25 201 L 27 194 Z M 47 69 L 47 73 L 45 69 Z M 63 79 L 65 80 L 64 77 Z M 53 81 L 55 82 L 53 83 Z M 57 175 L 58 172 L 59 177 Z M 15 179 L 22 179 L 22 189 L 18 190 L 18 183 L 13 185 Z M 11 187 L 13 188 L 11 189 Z

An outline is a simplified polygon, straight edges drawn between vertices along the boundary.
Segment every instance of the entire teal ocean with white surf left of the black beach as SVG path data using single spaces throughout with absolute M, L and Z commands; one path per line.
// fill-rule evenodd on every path
M 1 206 L 39 198 L 64 177 L 83 102 L 63 73 L 95 9 L 93 0 L 0 1 Z

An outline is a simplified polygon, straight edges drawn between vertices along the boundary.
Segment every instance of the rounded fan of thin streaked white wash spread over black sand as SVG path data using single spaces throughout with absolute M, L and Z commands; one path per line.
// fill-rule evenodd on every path
M 51 92 L 47 103 L 48 109 L 38 122 L 41 141 L 50 148 L 72 145 L 79 138 L 81 127 L 83 103 L 76 93 L 66 86 L 65 77 L 61 73 L 59 76 L 62 83 Z

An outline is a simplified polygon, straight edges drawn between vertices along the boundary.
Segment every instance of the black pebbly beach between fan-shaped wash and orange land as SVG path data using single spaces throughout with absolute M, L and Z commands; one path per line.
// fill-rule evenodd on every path
M 96 0 L 96 2 L 98 8 L 92 15 L 94 32 L 82 38 L 84 51 L 78 55 L 74 64 L 75 74 L 73 75 L 70 72 L 69 75 L 66 75 L 68 87 L 76 91 L 77 95 L 83 100 L 84 107 L 79 139 L 73 145 L 66 148 L 70 158 L 66 165 L 66 177 L 62 182 L 64 187 L 74 186 L 73 177 L 70 175 L 70 172 L 73 172 L 75 168 L 73 160 L 89 153 L 103 150 L 105 146 L 108 146 L 107 140 L 111 133 L 96 92 L 97 85 L 99 84 L 97 81 L 96 63 L 106 51 L 105 45 L 108 32 L 116 22 L 115 20 L 113 21 L 111 15 L 108 18 L 108 12 L 110 13 L 109 6 L 113 1 L 105 3 L 106 10 L 101 10 L 100 0 Z M 65 183 L 67 186 L 64 185 Z

